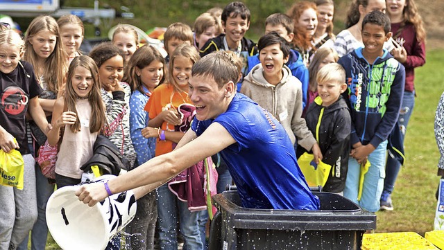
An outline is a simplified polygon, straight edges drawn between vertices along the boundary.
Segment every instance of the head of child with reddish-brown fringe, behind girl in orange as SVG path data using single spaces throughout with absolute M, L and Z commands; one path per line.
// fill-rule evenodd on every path
M 170 24 L 164 33 L 164 46 L 168 55 L 165 62 L 169 64 L 169 57 L 180 44 L 194 44 L 193 31 L 187 24 Z

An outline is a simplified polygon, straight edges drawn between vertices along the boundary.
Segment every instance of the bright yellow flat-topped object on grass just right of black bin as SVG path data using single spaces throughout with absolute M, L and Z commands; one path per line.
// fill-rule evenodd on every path
M 364 233 L 361 250 L 437 250 L 418 233 Z

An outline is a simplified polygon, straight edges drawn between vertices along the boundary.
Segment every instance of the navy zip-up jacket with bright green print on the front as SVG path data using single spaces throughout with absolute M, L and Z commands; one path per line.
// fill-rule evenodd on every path
M 384 50 L 373 64 L 362 55 L 363 48 L 341 57 L 348 91 L 343 96 L 352 117 L 350 143 L 359 141 L 375 148 L 385 141 L 398 120 L 404 95 L 405 69 Z

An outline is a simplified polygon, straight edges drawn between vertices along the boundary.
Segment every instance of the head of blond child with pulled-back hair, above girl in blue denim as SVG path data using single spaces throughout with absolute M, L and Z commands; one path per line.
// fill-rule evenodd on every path
M 131 26 L 119 24 L 114 33 L 112 33 L 112 45 L 123 51 L 124 59 L 128 62 L 137 48 L 139 48 L 139 35 Z

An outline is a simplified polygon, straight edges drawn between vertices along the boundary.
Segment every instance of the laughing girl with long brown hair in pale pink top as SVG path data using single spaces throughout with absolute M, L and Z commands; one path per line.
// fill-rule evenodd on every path
M 58 188 L 80 183 L 83 173 L 80 166 L 92 157 L 94 142 L 105 125 L 98 75 L 90 57 L 74 58 L 69 64 L 65 95 L 54 105 L 53 130 L 48 141 L 56 145 L 62 140 L 56 161 Z M 62 127 L 65 127 L 63 134 Z

